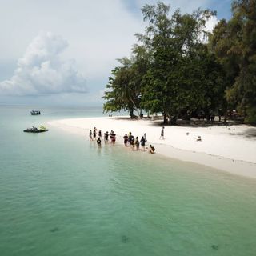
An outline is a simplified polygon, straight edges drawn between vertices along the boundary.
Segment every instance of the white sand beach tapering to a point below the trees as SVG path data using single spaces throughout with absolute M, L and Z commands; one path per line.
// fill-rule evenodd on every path
M 149 119 L 72 118 L 52 121 L 49 125 L 81 134 L 86 139 L 94 127 L 102 130 L 102 134 L 114 130 L 118 144 L 123 143 L 122 137 L 129 132 L 139 139 L 146 133 L 146 145 L 152 144 L 157 154 L 256 178 L 256 128 L 252 126 L 165 126 L 162 140 L 161 121 Z M 198 136 L 201 136 L 201 142 L 197 141 Z

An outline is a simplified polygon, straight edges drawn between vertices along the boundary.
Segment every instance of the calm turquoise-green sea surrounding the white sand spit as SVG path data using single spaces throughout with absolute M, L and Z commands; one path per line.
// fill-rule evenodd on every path
M 57 128 L 96 108 L 0 106 L 0 255 L 256 255 L 256 180 Z M 93 127 L 92 127 L 93 128 Z M 104 130 L 104 127 L 98 127 Z

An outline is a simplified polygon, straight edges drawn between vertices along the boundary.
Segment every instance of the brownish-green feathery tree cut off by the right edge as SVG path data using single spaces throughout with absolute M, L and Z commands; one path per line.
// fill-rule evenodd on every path
M 210 43 L 230 80 L 230 106 L 244 114 L 245 122 L 256 123 L 256 1 L 234 1 L 232 11 L 229 22 L 215 27 Z

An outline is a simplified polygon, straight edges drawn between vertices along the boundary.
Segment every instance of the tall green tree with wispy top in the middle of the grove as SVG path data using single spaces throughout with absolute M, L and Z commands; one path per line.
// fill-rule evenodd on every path
M 205 55 L 198 54 L 198 49 L 202 46 L 200 35 L 206 34 L 206 20 L 214 13 L 197 10 L 182 15 L 176 10 L 169 18 L 169 10 L 162 2 L 144 6 L 142 13 L 149 25 L 146 34 L 138 35 L 138 39 L 153 56 L 143 80 L 142 106 L 162 112 L 164 122 L 169 118 L 175 124 L 182 110 L 197 109 L 206 94 L 206 83 L 202 86 L 206 80 L 206 74 L 202 74 Z

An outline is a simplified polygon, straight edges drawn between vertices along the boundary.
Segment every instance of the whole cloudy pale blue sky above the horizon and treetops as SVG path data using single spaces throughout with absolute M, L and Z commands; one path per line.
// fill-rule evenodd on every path
M 143 33 L 141 8 L 153 0 L 0 0 L 0 104 L 102 106 L 117 58 Z M 231 0 L 166 0 L 170 10 L 216 10 Z

